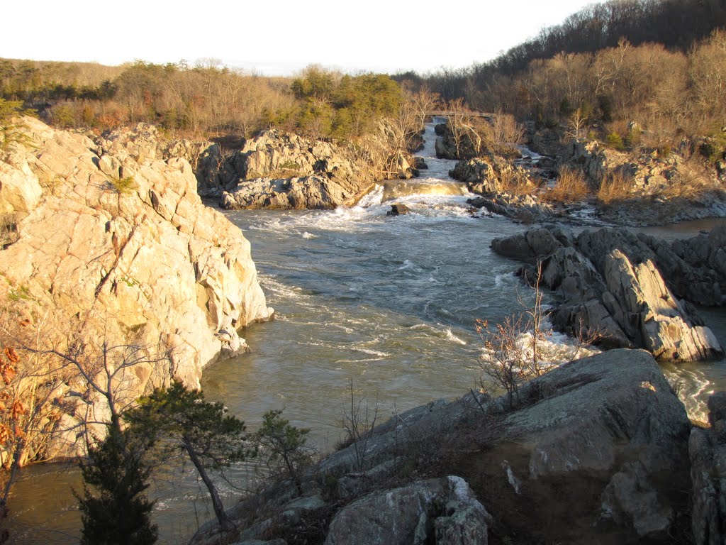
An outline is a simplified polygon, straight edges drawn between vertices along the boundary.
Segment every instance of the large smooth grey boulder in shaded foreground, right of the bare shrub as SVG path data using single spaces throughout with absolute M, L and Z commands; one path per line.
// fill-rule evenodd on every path
M 570 496 L 558 501 L 595 508 L 585 515 L 592 525 L 605 520 L 639 538 L 666 538 L 674 520 L 672 483 L 688 481 L 690 423 L 653 358 L 604 352 L 536 379 L 528 393 L 536 403 L 505 416 L 501 452 L 495 447 L 485 459 L 506 454 L 521 494 L 528 487 L 544 494 L 557 483 Z M 669 474 L 672 483 L 663 478 Z M 576 490 L 584 475 L 600 485 L 583 496 L 595 493 L 599 501 Z

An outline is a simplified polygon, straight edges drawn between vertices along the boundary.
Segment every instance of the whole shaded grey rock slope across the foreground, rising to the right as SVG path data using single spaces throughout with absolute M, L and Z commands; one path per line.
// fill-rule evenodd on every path
M 192 543 L 690 542 L 690 430 L 653 358 L 613 350 L 523 385 L 511 407 L 470 393 L 398 414 L 302 492 L 282 480 L 240 501 L 234 535 L 211 524 Z

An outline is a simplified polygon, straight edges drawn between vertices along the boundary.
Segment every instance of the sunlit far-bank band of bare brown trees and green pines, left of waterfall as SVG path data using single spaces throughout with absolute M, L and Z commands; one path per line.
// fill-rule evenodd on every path
M 388 76 L 346 76 L 313 65 L 297 78 L 267 78 L 209 59 L 190 67 L 136 61 L 123 67 L 0 60 L 0 98 L 37 108 L 61 127 L 110 129 L 139 121 L 171 131 L 249 137 L 282 126 L 349 139 L 395 116 L 401 88 Z

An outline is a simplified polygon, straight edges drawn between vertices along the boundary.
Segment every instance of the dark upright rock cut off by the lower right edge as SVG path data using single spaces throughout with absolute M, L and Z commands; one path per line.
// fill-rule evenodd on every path
M 688 440 L 696 545 L 726 542 L 726 392 L 712 395 L 708 405 L 711 428 L 693 428 Z

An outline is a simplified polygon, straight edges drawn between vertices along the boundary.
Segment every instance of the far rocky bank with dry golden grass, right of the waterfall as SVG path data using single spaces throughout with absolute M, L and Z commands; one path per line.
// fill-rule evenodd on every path
M 532 161 L 494 153 L 483 140 L 474 146 L 471 131 L 461 129 L 457 139 L 448 124 L 437 129 L 436 153 L 459 159 L 449 175 L 481 195 L 472 206 L 492 214 L 527 223 L 617 226 L 726 217 L 726 163 L 711 165 L 688 142 L 678 150 L 615 150 L 530 124 L 528 145 L 542 154 Z M 563 170 L 579 178 L 576 187 L 563 182 Z

